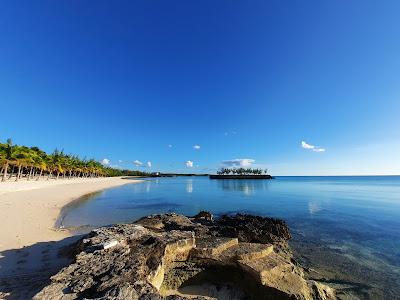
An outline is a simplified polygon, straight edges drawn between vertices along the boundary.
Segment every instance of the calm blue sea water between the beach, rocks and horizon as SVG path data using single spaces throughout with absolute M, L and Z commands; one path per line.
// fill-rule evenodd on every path
M 361 298 L 400 294 L 400 176 L 148 179 L 76 201 L 60 223 L 92 228 L 200 210 L 283 218 L 298 259 L 318 269 L 314 277 L 351 285 L 349 293 Z

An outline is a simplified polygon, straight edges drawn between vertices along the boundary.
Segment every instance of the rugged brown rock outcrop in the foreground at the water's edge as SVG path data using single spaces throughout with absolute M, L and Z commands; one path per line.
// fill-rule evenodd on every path
M 35 299 L 335 299 L 304 279 L 281 220 L 153 215 L 92 231 Z

